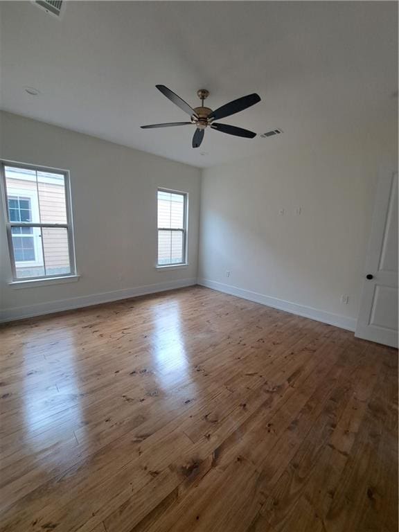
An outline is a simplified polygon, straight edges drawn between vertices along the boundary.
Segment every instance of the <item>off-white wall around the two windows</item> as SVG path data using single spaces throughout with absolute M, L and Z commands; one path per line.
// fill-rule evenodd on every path
M 201 179 L 198 168 L 14 114 L 1 112 L 0 120 L 1 158 L 70 170 L 80 274 L 76 283 L 20 290 L 11 287 L 8 284 L 10 258 L 1 213 L 0 312 L 3 319 L 116 299 L 140 293 L 140 287 L 148 285 L 173 287 L 195 282 Z M 186 268 L 154 267 L 158 186 L 189 194 L 189 265 Z

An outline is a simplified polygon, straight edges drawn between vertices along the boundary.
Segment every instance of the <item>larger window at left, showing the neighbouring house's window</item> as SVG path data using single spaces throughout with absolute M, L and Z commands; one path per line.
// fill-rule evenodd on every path
M 14 281 L 75 274 L 69 175 L 1 163 Z

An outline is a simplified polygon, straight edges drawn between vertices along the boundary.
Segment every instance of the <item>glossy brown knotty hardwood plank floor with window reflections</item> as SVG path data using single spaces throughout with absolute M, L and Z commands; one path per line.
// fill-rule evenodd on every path
M 398 359 L 203 287 L 8 324 L 2 532 L 396 532 Z

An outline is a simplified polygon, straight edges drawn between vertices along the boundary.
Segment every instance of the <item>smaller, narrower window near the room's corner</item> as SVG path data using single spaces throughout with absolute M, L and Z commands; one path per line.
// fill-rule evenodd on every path
M 158 190 L 158 265 L 186 263 L 187 195 Z

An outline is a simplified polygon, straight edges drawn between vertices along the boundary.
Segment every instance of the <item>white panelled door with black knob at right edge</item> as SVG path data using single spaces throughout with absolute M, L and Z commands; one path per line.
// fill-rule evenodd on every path
M 355 336 L 398 347 L 398 174 L 381 172 Z

